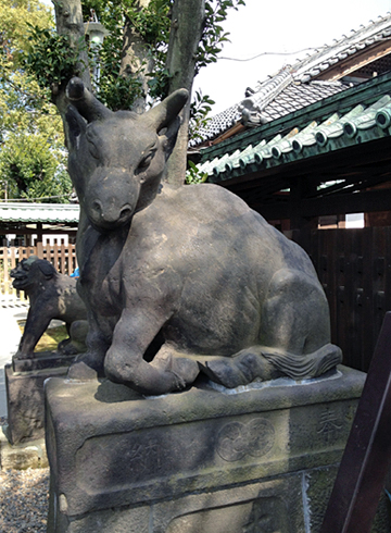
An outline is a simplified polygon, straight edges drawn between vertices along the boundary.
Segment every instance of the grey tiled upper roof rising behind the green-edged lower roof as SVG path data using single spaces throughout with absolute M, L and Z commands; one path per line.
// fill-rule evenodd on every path
M 391 14 L 371 21 L 330 46 L 245 90 L 245 98 L 213 116 L 190 149 L 216 144 L 249 127 L 300 111 L 353 85 L 391 71 Z M 202 140 L 200 140 L 202 139 Z

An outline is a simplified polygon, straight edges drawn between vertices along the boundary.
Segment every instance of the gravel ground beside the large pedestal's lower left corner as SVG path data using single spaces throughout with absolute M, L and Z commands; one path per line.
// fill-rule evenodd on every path
M 0 470 L 0 533 L 45 533 L 48 504 L 49 468 Z

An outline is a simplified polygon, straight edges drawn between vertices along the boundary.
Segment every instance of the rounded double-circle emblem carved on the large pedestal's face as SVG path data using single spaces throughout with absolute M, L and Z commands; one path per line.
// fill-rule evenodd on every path
M 222 459 L 234 462 L 247 455 L 262 457 L 273 448 L 275 430 L 266 419 L 256 418 L 247 424 L 230 422 L 219 432 L 217 454 Z

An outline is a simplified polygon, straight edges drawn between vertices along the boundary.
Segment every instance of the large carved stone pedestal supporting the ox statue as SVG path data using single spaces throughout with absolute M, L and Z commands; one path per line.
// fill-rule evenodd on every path
M 51 379 L 48 532 L 316 533 L 364 381 L 340 367 L 311 383 L 142 398 Z

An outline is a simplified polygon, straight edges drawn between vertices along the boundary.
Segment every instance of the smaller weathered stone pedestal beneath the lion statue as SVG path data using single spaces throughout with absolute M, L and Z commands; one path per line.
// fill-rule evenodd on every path
M 8 438 L 12 445 L 45 437 L 43 382 L 65 376 L 74 356 L 46 351 L 34 359 L 14 359 L 7 364 Z

